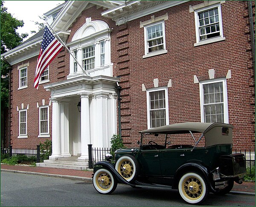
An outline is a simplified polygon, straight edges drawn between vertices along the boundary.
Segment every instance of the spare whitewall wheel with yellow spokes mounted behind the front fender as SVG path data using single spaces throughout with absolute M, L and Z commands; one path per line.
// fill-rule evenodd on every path
M 117 172 L 127 181 L 134 181 L 138 173 L 138 162 L 131 155 L 124 155 L 116 162 Z

